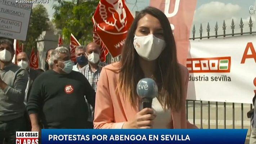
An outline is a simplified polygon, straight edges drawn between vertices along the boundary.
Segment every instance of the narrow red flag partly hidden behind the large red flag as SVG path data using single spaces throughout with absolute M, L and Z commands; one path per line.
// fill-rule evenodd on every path
M 100 47 L 100 61 L 105 62 L 106 61 L 106 56 L 108 54 L 108 49 L 105 47 L 103 44 L 102 40 L 100 40 L 99 35 L 96 32 L 96 27 L 95 24 L 93 24 L 93 42 L 99 45 Z

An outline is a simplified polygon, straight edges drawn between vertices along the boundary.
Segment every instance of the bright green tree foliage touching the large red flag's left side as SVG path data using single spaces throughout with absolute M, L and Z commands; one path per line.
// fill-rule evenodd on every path
M 80 44 L 93 40 L 93 23 L 91 21 L 99 0 L 55 0 L 53 22 L 62 30 L 64 44 L 69 44 L 72 33 Z

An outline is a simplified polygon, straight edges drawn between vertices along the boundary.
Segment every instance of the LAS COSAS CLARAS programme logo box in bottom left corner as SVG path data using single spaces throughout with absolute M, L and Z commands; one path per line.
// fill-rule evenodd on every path
M 38 144 L 38 132 L 16 131 L 16 144 Z

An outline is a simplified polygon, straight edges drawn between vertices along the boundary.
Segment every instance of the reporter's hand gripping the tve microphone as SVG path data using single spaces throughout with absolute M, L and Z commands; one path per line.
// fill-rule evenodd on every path
M 156 118 L 152 108 L 144 108 L 138 112 L 133 121 L 123 124 L 123 129 L 152 129 L 153 120 Z

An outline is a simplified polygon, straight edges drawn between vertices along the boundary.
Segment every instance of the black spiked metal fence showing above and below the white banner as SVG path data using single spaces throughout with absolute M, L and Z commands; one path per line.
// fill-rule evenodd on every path
M 225 20 L 223 21 L 223 24 L 222 24 L 222 30 L 223 30 L 223 32 L 219 35 L 218 34 L 218 28 L 219 28 L 219 26 L 218 26 L 218 23 L 216 22 L 216 24 L 215 24 L 215 27 L 214 27 L 214 31 L 215 31 L 215 35 L 211 35 L 210 36 L 210 25 L 209 25 L 209 23 L 207 24 L 207 28 L 206 28 L 206 32 L 207 32 L 207 36 L 202 36 L 202 33 L 203 33 L 203 27 L 202 27 L 202 24 L 200 24 L 200 28 L 199 28 L 199 37 L 195 37 L 195 34 L 196 34 L 196 28 L 195 28 L 195 26 L 193 26 L 193 30 L 192 30 L 192 33 L 193 33 L 193 36 L 192 36 L 192 38 L 190 38 L 190 40 L 196 40 L 196 39 L 210 39 L 210 38 L 217 38 L 217 37 L 226 37 L 226 36 L 236 36 L 236 35 L 250 35 L 250 34 L 252 34 L 252 33 L 256 33 L 256 31 L 252 31 L 252 28 L 253 28 L 253 23 L 252 23 L 252 19 L 251 19 L 251 17 L 250 17 L 250 20 L 249 20 L 249 22 L 248 22 L 248 27 L 249 27 L 249 32 L 243 32 L 243 29 L 244 29 L 244 23 L 243 23 L 243 21 L 242 21 L 242 18 L 241 18 L 241 20 L 240 20 L 240 24 L 239 24 L 239 29 L 240 29 L 240 32 L 239 33 L 234 33 L 234 30 L 235 30 L 235 24 L 234 24 L 234 20 L 232 19 L 232 22 L 231 22 L 231 25 L 230 25 L 230 27 L 231 27 L 231 30 L 232 30 L 232 33 L 230 33 L 230 34 L 226 34 L 226 29 L 227 29 L 227 26 L 226 26 L 226 23 L 225 23 Z M 198 102 L 199 102 L 199 104 L 198 104 Z M 203 101 L 194 101 L 194 100 L 187 100 L 187 103 L 186 103 L 186 105 L 187 105 L 187 119 L 188 119 L 188 117 L 189 117 L 189 114 L 191 114 L 191 113 L 189 113 L 188 112 L 188 108 L 189 108 L 189 103 L 190 103 L 190 105 L 193 105 L 193 123 L 194 124 L 196 124 L 196 122 L 195 122 L 195 115 L 196 115 L 196 113 L 198 112 L 198 111 L 196 111 L 195 110 L 195 107 L 196 107 L 196 103 L 197 103 L 197 105 L 200 105 L 200 128 L 201 129 L 203 129 L 204 127 L 203 127 L 203 103 L 205 103 L 205 102 L 203 102 Z M 191 104 L 192 103 L 192 104 Z M 211 118 L 210 118 L 210 114 L 211 114 L 211 111 L 210 111 L 210 106 L 211 106 L 211 103 L 212 102 L 210 102 L 210 101 L 208 101 L 207 102 L 207 106 L 208 106 L 208 112 L 207 112 L 207 116 L 208 116 L 208 126 L 207 126 L 207 128 L 208 129 L 211 129 L 211 124 L 210 124 L 210 120 L 211 120 Z M 227 126 L 226 126 L 226 119 L 227 119 L 227 117 L 226 117 L 226 115 L 227 115 L 227 113 L 226 113 L 226 102 L 214 102 L 215 103 L 215 129 L 218 129 L 218 126 L 220 126 L 219 125 L 219 123 L 218 123 L 218 116 L 219 116 L 219 111 L 218 111 L 218 108 L 219 108 L 219 105 L 221 104 L 223 104 L 223 116 L 224 116 L 224 123 L 223 123 L 223 128 L 224 129 L 226 129 L 227 128 Z M 245 105 L 248 105 L 248 104 L 245 104 Z M 252 109 L 252 104 L 249 104 L 250 105 L 250 107 L 249 107 L 249 109 L 247 109 L 247 110 L 250 110 L 250 109 Z M 247 111 L 246 111 L 247 112 Z M 250 119 L 249 119 L 249 121 L 250 121 Z M 232 129 L 235 129 L 235 103 L 232 103 Z M 237 127 L 238 128 L 238 127 Z M 244 104 L 243 103 L 241 103 L 241 129 L 244 129 Z M 251 129 L 251 127 L 250 127 L 250 129 Z

